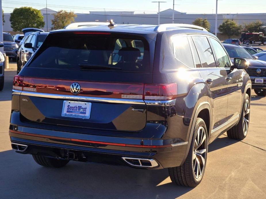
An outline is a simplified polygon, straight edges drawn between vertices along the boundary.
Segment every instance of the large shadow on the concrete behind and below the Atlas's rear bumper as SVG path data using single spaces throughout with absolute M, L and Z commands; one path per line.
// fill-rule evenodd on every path
M 0 198 L 176 198 L 192 188 L 167 180 L 167 169 L 70 161 L 63 168 L 46 168 L 31 155 L 0 152 Z

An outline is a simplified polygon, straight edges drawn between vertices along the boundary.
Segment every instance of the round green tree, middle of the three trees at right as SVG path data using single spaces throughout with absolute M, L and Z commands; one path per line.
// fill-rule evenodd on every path
M 228 38 L 232 35 L 239 35 L 242 31 L 242 26 L 238 25 L 236 22 L 226 19 L 219 27 L 218 30 L 226 34 Z

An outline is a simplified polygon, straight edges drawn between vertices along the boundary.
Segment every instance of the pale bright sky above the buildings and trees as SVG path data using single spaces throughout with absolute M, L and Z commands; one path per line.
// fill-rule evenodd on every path
M 47 0 L 47 7 L 75 13 L 89 11 L 136 11 L 137 13 L 156 13 L 156 0 Z M 160 0 L 160 11 L 173 8 L 173 0 Z M 175 10 L 186 13 L 215 13 L 215 0 L 175 0 Z M 12 12 L 14 8 L 30 6 L 36 9 L 46 7 L 46 0 L 2 0 L 4 12 Z M 219 0 L 218 13 L 266 13 L 265 0 Z M 265 16 L 266 17 L 266 16 Z

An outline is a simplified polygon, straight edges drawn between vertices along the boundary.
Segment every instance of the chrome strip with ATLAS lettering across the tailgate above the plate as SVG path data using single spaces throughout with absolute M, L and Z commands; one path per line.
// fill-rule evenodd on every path
M 116 99 L 116 98 L 102 98 L 102 97 L 86 97 L 86 96 L 76 96 L 76 95 L 59 95 L 50 93 L 37 93 L 22 91 L 21 95 L 34 96 L 34 97 L 46 97 L 53 99 L 71 99 L 71 100 L 83 100 L 89 102 L 108 102 L 108 103 L 119 103 L 119 104 L 145 104 L 142 99 Z

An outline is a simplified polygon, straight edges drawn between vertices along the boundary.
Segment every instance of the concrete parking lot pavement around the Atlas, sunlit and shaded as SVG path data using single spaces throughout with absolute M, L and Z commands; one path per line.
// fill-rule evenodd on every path
M 0 198 L 266 198 L 266 97 L 252 91 L 246 139 L 222 135 L 210 144 L 204 178 L 196 188 L 171 183 L 167 169 L 143 170 L 70 162 L 61 169 L 37 165 L 11 150 L 8 126 L 12 78 L 0 92 Z

